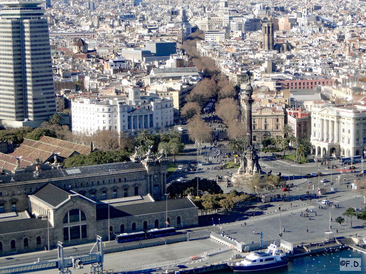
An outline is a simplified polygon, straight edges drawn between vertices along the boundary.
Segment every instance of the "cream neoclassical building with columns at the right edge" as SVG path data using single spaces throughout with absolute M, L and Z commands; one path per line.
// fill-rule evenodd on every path
M 363 155 L 366 146 L 366 104 L 311 109 L 313 154 L 329 159 Z

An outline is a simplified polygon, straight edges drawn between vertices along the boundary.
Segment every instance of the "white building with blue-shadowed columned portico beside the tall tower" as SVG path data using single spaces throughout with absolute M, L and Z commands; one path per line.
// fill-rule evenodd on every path
M 115 130 L 137 136 L 141 130 L 167 132 L 174 126 L 173 98 L 156 91 L 141 96 L 140 87 L 130 86 L 128 99 L 81 98 L 71 103 L 72 131 L 93 133 Z

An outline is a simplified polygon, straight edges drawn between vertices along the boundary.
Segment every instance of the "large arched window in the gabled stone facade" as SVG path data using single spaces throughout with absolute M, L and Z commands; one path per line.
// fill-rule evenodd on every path
M 86 216 L 80 209 L 71 209 L 63 219 L 64 241 L 84 239 L 86 233 Z

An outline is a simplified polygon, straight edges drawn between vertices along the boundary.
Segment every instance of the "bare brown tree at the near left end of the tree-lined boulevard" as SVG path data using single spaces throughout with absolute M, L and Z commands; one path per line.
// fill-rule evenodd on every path
M 195 142 L 198 148 L 198 152 L 201 155 L 201 151 L 205 143 L 212 140 L 211 129 L 208 125 L 206 125 L 201 117 L 199 117 L 199 115 L 195 115 L 188 122 L 188 129 L 188 136 L 190 140 Z

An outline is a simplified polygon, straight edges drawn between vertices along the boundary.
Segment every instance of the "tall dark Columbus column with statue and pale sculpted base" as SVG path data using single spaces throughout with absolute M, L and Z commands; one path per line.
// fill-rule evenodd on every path
M 246 131 L 247 131 L 247 143 L 245 155 L 240 159 L 240 167 L 238 172 L 233 176 L 232 182 L 235 183 L 239 177 L 247 176 L 251 177 L 255 174 L 259 174 L 261 167 L 258 163 L 257 151 L 252 143 L 252 104 L 254 99 L 251 97 L 253 94 L 253 87 L 250 83 L 251 73 L 247 71 L 247 86 L 242 92 L 242 99 L 245 102 L 245 114 L 242 113 L 242 117 L 245 115 Z

